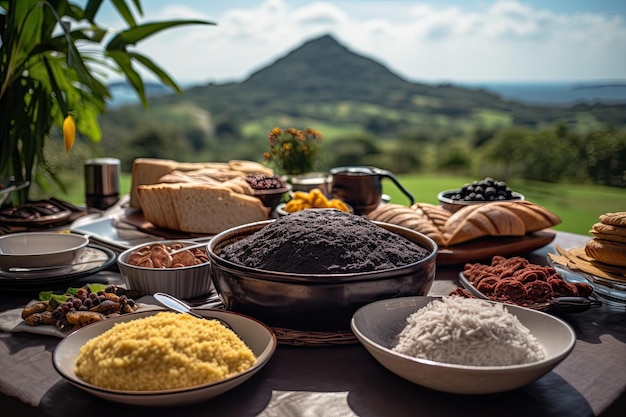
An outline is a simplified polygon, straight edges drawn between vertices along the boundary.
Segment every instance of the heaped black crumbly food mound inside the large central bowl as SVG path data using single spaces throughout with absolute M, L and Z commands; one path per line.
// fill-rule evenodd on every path
M 429 254 L 364 217 L 336 209 L 307 209 L 224 247 L 220 256 L 267 271 L 341 274 L 394 269 Z

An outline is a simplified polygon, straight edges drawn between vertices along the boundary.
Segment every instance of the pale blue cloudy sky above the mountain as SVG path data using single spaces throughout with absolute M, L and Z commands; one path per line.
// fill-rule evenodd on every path
M 202 19 L 137 45 L 179 83 L 243 81 L 331 34 L 414 82 L 626 82 L 624 0 L 144 0 L 142 21 Z M 103 10 L 99 23 L 119 28 Z

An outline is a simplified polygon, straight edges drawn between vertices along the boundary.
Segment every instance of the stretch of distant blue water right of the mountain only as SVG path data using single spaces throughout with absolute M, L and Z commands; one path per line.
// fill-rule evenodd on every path
M 616 83 L 476 83 L 469 88 L 484 88 L 502 98 L 527 104 L 573 105 L 577 103 L 626 104 L 626 82 Z

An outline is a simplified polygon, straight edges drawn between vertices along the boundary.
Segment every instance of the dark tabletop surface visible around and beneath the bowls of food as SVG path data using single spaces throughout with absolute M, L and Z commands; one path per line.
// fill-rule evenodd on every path
M 527 255 L 545 263 L 554 244 L 584 244 L 589 237 L 557 233 L 547 247 Z M 438 267 L 430 295 L 458 285 L 461 265 Z M 103 271 L 87 282 L 119 279 Z M 24 305 L 36 294 L 0 295 L 0 311 Z M 602 306 L 563 318 L 576 346 L 553 372 L 523 388 L 491 395 L 453 395 L 407 382 L 376 362 L 359 344 L 279 346 L 270 362 L 236 389 L 193 406 L 146 409 L 95 398 L 56 374 L 51 356 L 58 339 L 0 332 L 0 409 L 10 416 L 618 416 L 626 410 L 626 312 Z M 274 399 L 272 399 L 274 396 Z M 282 399 L 281 399 L 282 398 Z M 300 401 L 298 403 L 298 401 Z M 291 404 L 280 413 L 268 404 Z M 280 407 L 279 407 L 280 408 Z M 265 413 L 264 413 L 265 410 Z

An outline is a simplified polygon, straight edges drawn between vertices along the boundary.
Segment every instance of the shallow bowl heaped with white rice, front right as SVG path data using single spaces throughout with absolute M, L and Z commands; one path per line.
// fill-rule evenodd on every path
M 468 301 L 469 300 L 469 301 Z M 357 310 L 351 328 L 385 368 L 456 394 L 513 390 L 550 372 L 574 348 L 563 320 L 463 297 L 402 297 Z

